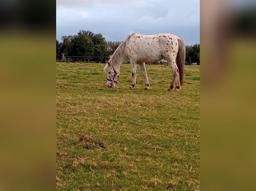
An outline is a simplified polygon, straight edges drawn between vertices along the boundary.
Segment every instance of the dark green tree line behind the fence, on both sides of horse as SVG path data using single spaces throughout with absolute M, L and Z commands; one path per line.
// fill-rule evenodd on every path
M 104 57 L 112 55 L 121 42 L 106 41 L 101 33 L 80 30 L 77 35 L 62 36 L 61 42 L 56 39 L 56 60 L 65 56 L 91 57 L 105 61 Z M 186 45 L 186 62 L 200 62 L 200 44 Z

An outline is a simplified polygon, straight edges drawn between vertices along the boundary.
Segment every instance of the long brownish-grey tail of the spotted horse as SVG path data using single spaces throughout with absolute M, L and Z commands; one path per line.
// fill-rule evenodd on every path
M 183 39 L 178 38 L 179 50 L 176 57 L 176 64 L 179 69 L 179 83 L 180 86 L 183 85 L 184 78 L 184 65 L 185 65 L 185 57 L 186 57 L 186 47 Z

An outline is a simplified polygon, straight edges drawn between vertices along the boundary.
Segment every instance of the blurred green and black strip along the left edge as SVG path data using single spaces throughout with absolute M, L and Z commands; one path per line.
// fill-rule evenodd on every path
M 55 2 L 0 1 L 0 190 L 55 189 Z

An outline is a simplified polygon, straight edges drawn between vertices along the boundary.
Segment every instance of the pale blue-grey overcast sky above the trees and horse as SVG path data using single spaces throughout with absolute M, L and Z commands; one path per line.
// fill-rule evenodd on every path
M 56 0 L 56 39 L 79 30 L 123 41 L 131 32 L 172 33 L 200 43 L 200 0 Z

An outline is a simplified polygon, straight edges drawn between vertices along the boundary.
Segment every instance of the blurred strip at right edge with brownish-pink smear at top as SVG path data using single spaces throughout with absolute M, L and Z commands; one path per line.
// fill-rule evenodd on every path
M 201 1 L 201 189 L 255 190 L 255 1 Z

